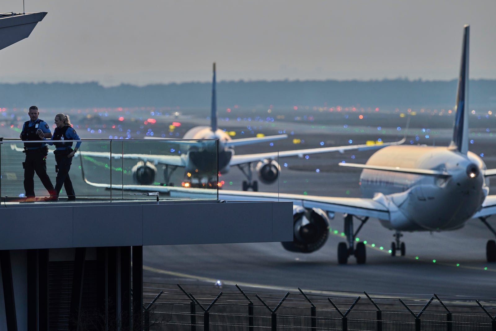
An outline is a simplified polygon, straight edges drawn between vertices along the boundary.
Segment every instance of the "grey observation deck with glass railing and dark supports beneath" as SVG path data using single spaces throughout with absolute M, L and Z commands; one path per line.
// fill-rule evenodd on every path
M 218 199 L 217 140 L 81 140 L 75 201 L 36 174 L 25 197 L 24 143 L 0 138 L 0 330 L 77 330 L 84 311 L 141 330 L 143 246 L 293 240 L 292 202 Z

